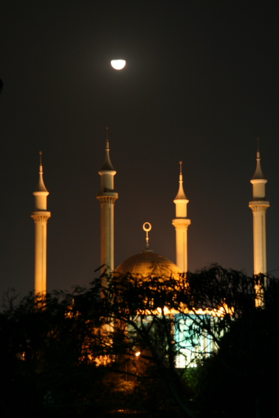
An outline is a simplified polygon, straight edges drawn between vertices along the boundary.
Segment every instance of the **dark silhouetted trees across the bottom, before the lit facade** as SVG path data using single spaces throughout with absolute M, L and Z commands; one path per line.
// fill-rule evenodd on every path
M 278 337 L 276 279 L 266 287 L 259 281 L 256 293 L 254 278 L 214 265 L 179 280 L 112 274 L 106 282 L 43 302 L 11 300 L 0 314 L 6 416 L 18 417 L 18 408 L 21 417 L 114 410 L 230 416 L 240 392 L 243 410 L 248 403 L 262 410 L 262 393 L 273 392 L 257 391 L 256 376 L 269 376 L 267 364 L 278 367 L 269 350 Z

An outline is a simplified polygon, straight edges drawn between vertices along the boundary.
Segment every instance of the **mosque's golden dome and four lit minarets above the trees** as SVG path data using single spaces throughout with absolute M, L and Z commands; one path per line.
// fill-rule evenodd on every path
M 51 213 L 47 210 L 47 196 L 49 192 L 43 180 L 42 153 L 40 152 L 39 181 L 33 195 L 35 196 L 35 210 L 31 217 L 35 222 L 35 294 L 47 292 L 47 220 Z M 100 265 L 102 272 L 114 271 L 114 203 L 118 193 L 114 191 L 114 176 L 116 171 L 110 160 L 110 145 L 107 138 L 105 146 L 105 160 L 100 171 L 101 191 L 97 193 L 100 201 Z M 265 200 L 266 178 L 262 173 L 260 153 L 257 150 L 257 167 L 252 180 L 253 199 L 249 207 L 253 214 L 254 236 L 254 274 L 266 274 L 266 209 L 269 202 Z M 146 249 L 123 261 L 115 271 L 120 274 L 140 274 L 142 277 L 156 275 L 157 277 L 176 276 L 188 271 L 188 199 L 183 189 L 182 162 L 180 162 L 179 191 L 174 199 L 176 217 L 172 224 L 176 233 L 176 263 L 149 249 L 149 222 L 144 224 L 146 231 Z

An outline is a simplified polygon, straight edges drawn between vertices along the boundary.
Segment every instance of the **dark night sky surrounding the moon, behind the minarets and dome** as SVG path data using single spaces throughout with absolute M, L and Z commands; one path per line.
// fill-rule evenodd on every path
M 115 265 L 150 247 L 175 262 L 183 161 L 189 270 L 252 274 L 260 137 L 267 265 L 279 276 L 278 1 L 7 1 L 0 13 L 1 284 L 33 290 L 33 190 L 43 150 L 48 290 L 100 266 L 98 170 L 110 127 Z M 121 56 L 126 68 L 113 70 Z

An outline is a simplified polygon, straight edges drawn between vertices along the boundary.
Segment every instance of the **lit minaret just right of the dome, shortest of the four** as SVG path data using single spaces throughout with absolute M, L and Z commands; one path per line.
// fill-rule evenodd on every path
M 188 271 L 188 247 L 187 247 L 187 231 L 190 225 L 190 219 L 187 219 L 187 203 L 188 199 L 183 190 L 182 161 L 180 164 L 179 174 L 179 192 L 174 199 L 176 219 L 172 220 L 176 231 L 176 265 L 181 272 Z

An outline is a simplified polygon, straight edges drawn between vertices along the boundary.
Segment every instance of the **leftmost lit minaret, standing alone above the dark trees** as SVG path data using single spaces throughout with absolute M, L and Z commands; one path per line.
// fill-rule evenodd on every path
M 47 196 L 49 192 L 43 181 L 42 151 L 40 151 L 39 182 L 35 192 L 35 212 L 31 217 L 35 222 L 35 295 L 47 293 Z

